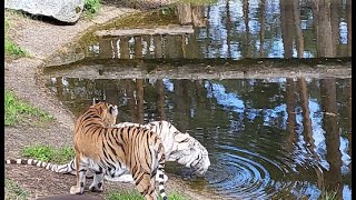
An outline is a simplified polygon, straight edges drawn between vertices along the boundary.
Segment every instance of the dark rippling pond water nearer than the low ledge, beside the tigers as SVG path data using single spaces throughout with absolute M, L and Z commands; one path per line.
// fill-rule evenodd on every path
M 210 153 L 204 179 L 167 166 L 192 189 L 226 199 L 350 199 L 350 79 L 89 80 L 48 87 L 75 114 L 92 98 L 119 106 L 118 121 L 171 121 Z

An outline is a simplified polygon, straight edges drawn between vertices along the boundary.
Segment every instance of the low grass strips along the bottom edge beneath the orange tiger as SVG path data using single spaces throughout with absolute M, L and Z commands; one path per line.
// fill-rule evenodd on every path
M 107 194 L 108 200 L 144 200 L 144 197 L 137 191 L 110 191 Z M 161 197 L 158 198 L 161 200 Z M 171 192 L 168 194 L 169 200 L 187 200 L 185 194 L 178 192 Z

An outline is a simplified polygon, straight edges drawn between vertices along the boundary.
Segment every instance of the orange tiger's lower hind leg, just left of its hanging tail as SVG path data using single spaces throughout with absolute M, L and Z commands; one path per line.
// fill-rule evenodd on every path
M 136 189 L 145 197 L 146 200 L 157 200 L 158 196 L 155 190 L 155 176 L 152 177 L 147 172 L 134 173 Z M 154 184 L 152 184 L 154 182 Z

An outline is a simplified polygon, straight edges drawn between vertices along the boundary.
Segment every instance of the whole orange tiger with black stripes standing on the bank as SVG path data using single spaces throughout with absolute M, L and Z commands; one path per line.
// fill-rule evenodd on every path
M 147 128 L 127 126 L 108 127 L 106 120 L 117 112 L 117 107 L 98 102 L 79 116 L 75 126 L 75 160 L 77 184 L 70 188 L 71 194 L 83 193 L 86 172 L 95 171 L 91 191 L 102 191 L 106 176 L 123 174 L 128 170 L 136 189 L 146 200 L 157 199 L 156 174 L 159 192 L 165 193 L 165 148 L 158 134 Z

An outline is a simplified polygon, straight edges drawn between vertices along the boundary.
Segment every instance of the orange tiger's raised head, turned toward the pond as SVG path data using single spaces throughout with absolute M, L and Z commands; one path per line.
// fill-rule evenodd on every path
M 103 124 L 106 127 L 111 127 L 111 126 L 116 124 L 116 119 L 119 113 L 117 106 L 93 99 L 91 107 L 93 107 L 98 110 L 98 112 L 103 121 Z

